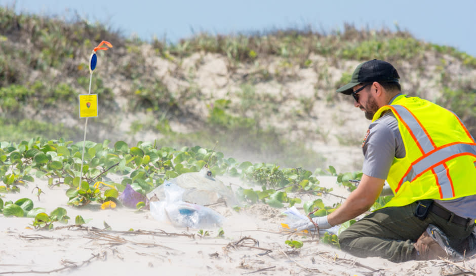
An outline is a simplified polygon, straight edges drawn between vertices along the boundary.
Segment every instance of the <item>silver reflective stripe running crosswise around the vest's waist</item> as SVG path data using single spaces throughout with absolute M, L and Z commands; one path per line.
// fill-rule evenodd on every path
M 468 144 L 453 144 L 436 150 L 414 164 L 410 173 L 405 176 L 404 181 L 408 180 L 412 182 L 416 176 L 424 173 L 435 164 L 443 162 L 445 159 L 449 159 L 458 153 L 471 153 L 473 156 L 476 156 L 476 146 Z

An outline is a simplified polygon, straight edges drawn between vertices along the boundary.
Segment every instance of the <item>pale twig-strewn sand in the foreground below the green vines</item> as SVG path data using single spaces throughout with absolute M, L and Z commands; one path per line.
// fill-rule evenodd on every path
M 220 179 L 220 177 L 218 177 Z M 335 177 L 319 177 L 333 193 L 348 192 L 335 184 Z M 225 184 L 238 179 L 220 179 Z M 228 183 L 229 182 L 229 183 Z M 243 184 L 243 183 L 240 183 Z M 245 185 L 245 184 L 243 184 Z M 45 194 L 38 200 L 35 186 Z M 452 263 L 445 260 L 392 263 L 381 258 L 358 258 L 336 247 L 318 243 L 316 237 L 284 232 L 281 214 L 263 204 L 243 207 L 237 212 L 226 206 L 211 208 L 225 217 L 219 228 L 176 228 L 155 220 L 149 211 L 117 208 L 100 210 L 98 205 L 72 208 L 67 205 L 67 187 L 49 188 L 36 180 L 20 193 L 3 194 L 4 201 L 29 198 L 34 207 L 49 214 L 57 207 L 67 210 L 68 224 L 56 222 L 55 230 L 29 228 L 32 218 L 0 215 L 0 275 L 461 275 L 475 274 L 476 259 Z M 311 200 L 305 195 L 303 202 Z M 342 201 L 326 195 L 326 204 Z M 302 206 L 302 205 L 301 205 Z M 298 206 L 299 207 L 299 206 Z M 299 208 L 298 208 L 299 209 Z M 302 212 L 302 209 L 299 209 Z M 74 226 L 76 215 L 92 219 Z M 105 223 L 111 230 L 105 230 Z M 304 246 L 293 250 L 286 240 L 300 240 Z

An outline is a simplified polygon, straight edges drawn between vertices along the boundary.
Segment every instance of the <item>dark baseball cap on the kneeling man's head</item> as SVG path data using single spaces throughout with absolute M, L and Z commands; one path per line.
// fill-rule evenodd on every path
M 361 63 L 355 68 L 350 83 L 337 89 L 337 92 L 346 95 L 352 94 L 352 88 L 358 84 L 369 82 L 399 82 L 399 73 L 390 63 L 373 59 Z

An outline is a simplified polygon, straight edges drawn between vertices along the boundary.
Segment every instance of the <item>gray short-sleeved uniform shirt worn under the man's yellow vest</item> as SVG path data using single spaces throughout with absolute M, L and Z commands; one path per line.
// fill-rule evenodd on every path
M 393 99 L 400 95 L 396 95 Z M 380 179 L 387 178 L 393 157 L 405 157 L 405 146 L 399 131 L 399 123 L 392 112 L 386 112 L 370 124 L 362 150 L 364 152 L 362 172 Z M 435 200 L 435 202 L 460 217 L 476 218 L 476 195 L 449 201 Z

